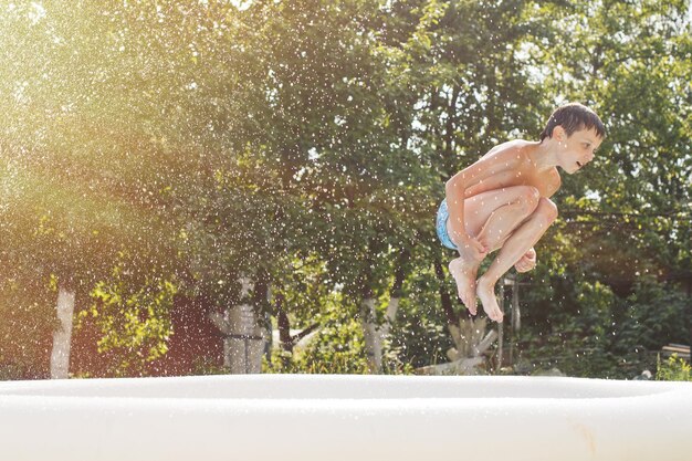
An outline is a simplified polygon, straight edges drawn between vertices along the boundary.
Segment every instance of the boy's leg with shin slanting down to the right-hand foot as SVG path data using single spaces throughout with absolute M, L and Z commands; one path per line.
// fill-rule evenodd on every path
M 495 298 L 495 283 L 543 237 L 557 218 L 557 207 L 549 199 L 541 198 L 531 217 L 506 239 L 502 250 L 487 271 L 478 280 L 476 294 L 487 316 L 502 322 L 502 311 Z

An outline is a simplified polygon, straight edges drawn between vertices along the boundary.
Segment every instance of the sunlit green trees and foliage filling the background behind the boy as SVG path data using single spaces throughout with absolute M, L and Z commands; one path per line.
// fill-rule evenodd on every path
M 356 306 L 380 300 L 381 321 L 398 269 L 386 373 L 443 362 L 460 308 L 442 312 L 455 287 L 430 269 L 449 256 L 432 227 L 442 185 L 500 142 L 535 139 L 565 101 L 588 103 L 608 133 L 593 165 L 563 178 L 560 217 L 522 275 L 522 354 L 631 377 L 646 350 L 686 339 L 684 1 L 247 7 L 0 9 L 8 376 L 44 366 L 34 339 L 55 325 L 51 280 L 92 296 L 80 318 L 101 328 L 113 373 L 132 374 L 166 353 L 178 290 L 228 307 L 238 276 L 258 272 L 295 325 L 323 326 L 270 370 L 363 373 Z

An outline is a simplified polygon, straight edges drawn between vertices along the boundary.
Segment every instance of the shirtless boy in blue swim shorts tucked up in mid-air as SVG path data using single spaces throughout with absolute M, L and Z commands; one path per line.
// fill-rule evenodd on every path
M 591 109 L 566 104 L 551 115 L 539 142 L 495 146 L 447 181 L 437 232 L 444 247 L 459 251 L 449 270 L 471 314 L 478 295 L 487 316 L 502 322 L 495 283 L 512 265 L 517 272 L 536 265 L 533 245 L 557 218 L 549 199 L 560 187 L 557 167 L 568 175 L 581 169 L 594 159 L 605 132 Z M 481 262 L 495 250 L 497 258 L 476 281 Z

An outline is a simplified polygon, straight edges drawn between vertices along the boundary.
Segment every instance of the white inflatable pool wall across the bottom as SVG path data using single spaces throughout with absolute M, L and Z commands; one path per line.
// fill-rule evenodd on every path
M 691 460 L 692 384 L 252 375 L 0 384 L 2 460 Z

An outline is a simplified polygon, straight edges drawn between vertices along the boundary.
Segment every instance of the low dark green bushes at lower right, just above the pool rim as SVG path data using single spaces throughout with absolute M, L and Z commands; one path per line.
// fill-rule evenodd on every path
M 559 283 L 552 283 L 559 294 Z M 674 286 L 646 277 L 627 297 L 600 282 L 577 283 L 572 290 L 576 308 L 554 306 L 549 333 L 530 324 L 520 335 L 523 357 L 535 366 L 557 367 L 568 376 L 631 379 L 656 366 L 651 352 L 686 340 L 688 298 Z

